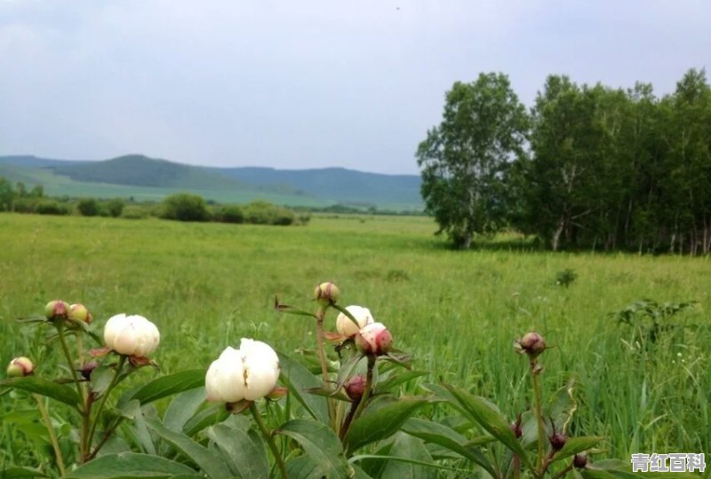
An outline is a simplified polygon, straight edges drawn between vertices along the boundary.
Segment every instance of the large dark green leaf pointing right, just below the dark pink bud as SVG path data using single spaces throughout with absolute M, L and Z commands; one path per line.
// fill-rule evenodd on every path
M 365 408 L 363 415 L 354 420 L 348 429 L 346 435 L 348 451 L 356 451 L 365 444 L 392 436 L 423 404 L 427 404 L 427 399 L 422 397 L 377 398 Z

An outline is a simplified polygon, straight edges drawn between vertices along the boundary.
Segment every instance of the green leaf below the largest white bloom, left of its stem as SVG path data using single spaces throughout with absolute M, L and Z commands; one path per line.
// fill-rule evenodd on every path
M 218 424 L 207 429 L 207 436 L 228 458 L 232 471 L 244 479 L 269 476 L 269 463 L 264 444 L 254 431 L 229 428 Z

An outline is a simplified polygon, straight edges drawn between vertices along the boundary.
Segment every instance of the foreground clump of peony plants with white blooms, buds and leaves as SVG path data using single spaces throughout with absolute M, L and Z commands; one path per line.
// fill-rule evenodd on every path
M 116 315 L 100 336 L 83 306 L 48 303 L 44 318 L 24 321 L 52 330 L 49 341 L 70 377 L 20 356 L 7 366 L 0 394 L 12 389 L 18 400 L 36 401 L 53 462 L 13 466 L 13 474 L 628 478 L 627 462 L 591 459 L 602 437 L 571 430 L 578 408 L 572 382 L 544 397 L 539 378 L 550 348 L 540 334 L 515 341 L 528 360 L 531 407 L 507 418 L 471 389 L 424 381 L 430 373 L 412 369 L 387 318 L 342 307 L 332 283 L 316 287 L 314 300 L 313 312 L 275 302 L 277 311 L 316 328 L 315 348 L 300 349 L 299 358 L 243 338 L 208 367 L 144 383 L 140 369 L 156 366 L 149 356 L 160 342 L 151 321 Z M 98 347 L 86 349 L 86 342 Z M 50 378 L 52 371 L 60 377 Z M 122 385 L 134 374 L 138 385 Z M 159 412 L 154 403 L 168 397 Z M 52 417 L 60 414 L 70 430 L 56 428 Z

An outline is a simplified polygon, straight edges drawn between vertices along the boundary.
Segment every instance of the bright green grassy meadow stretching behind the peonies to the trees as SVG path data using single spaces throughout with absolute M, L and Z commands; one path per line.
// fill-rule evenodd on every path
M 332 280 L 344 304 L 368 306 L 416 367 L 434 372 L 425 381 L 467 386 L 513 419 L 531 397 L 512 342 L 535 329 L 555 345 L 542 357 L 544 391 L 579 382 L 573 434 L 607 436 L 606 454 L 620 459 L 711 452 L 707 259 L 552 254 L 504 241 L 457 252 L 434 231 L 424 217 L 275 227 L 3 214 L 0 358 L 33 354 L 41 338 L 13 318 L 55 298 L 84 302 L 98 332 L 118 312 L 150 318 L 169 373 L 207 367 L 243 336 L 289 352 L 314 344 L 314 328 L 276 313 L 275 294 L 310 309 L 316 284 Z M 565 269 L 578 278 L 555 286 Z M 642 298 L 698 304 L 656 342 L 635 341 L 609 313 Z

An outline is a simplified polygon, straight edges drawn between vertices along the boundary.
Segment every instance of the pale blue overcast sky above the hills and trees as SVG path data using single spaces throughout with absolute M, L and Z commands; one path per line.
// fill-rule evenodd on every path
M 0 0 L 0 155 L 418 174 L 453 82 L 661 96 L 708 0 Z

